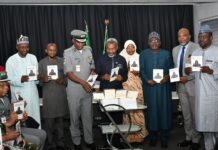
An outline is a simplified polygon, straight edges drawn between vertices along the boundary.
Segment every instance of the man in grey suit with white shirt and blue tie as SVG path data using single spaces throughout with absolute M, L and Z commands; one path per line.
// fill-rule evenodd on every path
M 178 46 L 173 48 L 173 61 L 175 67 L 179 68 L 180 82 L 177 84 L 177 91 L 182 106 L 182 113 L 184 117 L 184 129 L 186 139 L 178 143 L 179 147 L 186 147 L 191 145 L 190 149 L 198 150 L 200 134 L 195 130 L 194 126 L 194 108 L 195 108 L 195 91 L 194 80 L 187 76 L 184 68 L 187 64 L 191 64 L 192 52 L 199 48 L 199 46 L 190 41 L 191 35 L 189 30 L 181 28 L 178 31 Z

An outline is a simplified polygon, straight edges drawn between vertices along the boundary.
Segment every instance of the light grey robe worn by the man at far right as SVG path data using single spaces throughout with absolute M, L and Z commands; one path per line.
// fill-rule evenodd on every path
M 203 66 L 213 74 L 194 72 L 196 92 L 196 129 L 200 132 L 218 132 L 218 47 L 198 49 L 193 56 L 203 56 Z

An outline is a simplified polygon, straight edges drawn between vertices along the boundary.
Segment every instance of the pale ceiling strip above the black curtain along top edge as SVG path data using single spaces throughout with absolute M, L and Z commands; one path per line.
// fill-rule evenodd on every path
M 211 3 L 217 0 L 0 0 L 1 5 L 180 5 Z

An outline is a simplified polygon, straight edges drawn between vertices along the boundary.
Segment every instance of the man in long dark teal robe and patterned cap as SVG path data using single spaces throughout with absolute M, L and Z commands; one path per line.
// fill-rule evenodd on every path
M 169 132 L 172 127 L 172 101 L 169 83 L 169 69 L 172 68 L 170 53 L 160 49 L 160 35 L 149 34 L 149 49 L 140 54 L 140 72 L 143 83 L 144 102 L 147 104 L 150 146 L 156 146 L 158 132 L 161 133 L 161 147 L 168 147 Z M 160 83 L 153 80 L 153 69 L 163 69 Z

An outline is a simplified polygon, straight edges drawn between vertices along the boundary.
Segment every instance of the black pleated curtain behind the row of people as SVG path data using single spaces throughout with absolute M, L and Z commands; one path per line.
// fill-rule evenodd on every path
M 109 37 L 124 42 L 132 39 L 140 52 L 148 47 L 148 34 L 160 33 L 162 48 L 169 51 L 178 44 L 177 31 L 190 29 L 193 35 L 192 5 L 34 5 L 0 6 L 0 63 L 17 52 L 16 39 L 21 35 L 30 38 L 30 53 L 40 60 L 50 42 L 58 45 L 58 55 L 72 45 L 70 32 L 85 30 L 87 21 L 95 60 L 102 54 L 104 20 L 109 19 Z M 193 36 L 192 36 L 193 37 Z

